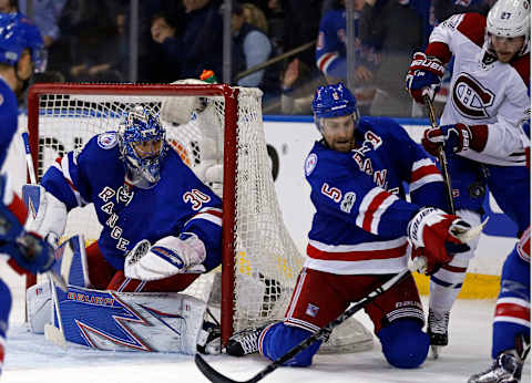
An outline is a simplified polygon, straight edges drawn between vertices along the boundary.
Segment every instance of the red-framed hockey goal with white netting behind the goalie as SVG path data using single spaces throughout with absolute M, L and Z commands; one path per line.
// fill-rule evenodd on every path
M 40 180 L 57 157 L 80 149 L 95 134 L 115 131 L 122 113 L 139 104 L 161 115 L 166 139 L 193 170 L 200 169 L 206 158 L 216 157 L 211 152 L 218 146 L 224 169 L 221 325 L 226 344 L 234 331 L 283 319 L 304 259 L 278 206 L 263 128 L 262 92 L 180 82 L 32 85 L 28 130 L 33 167 Z M 198 105 L 203 108 L 193 112 Z M 176 125 L 163 120 L 181 110 L 191 115 L 187 123 Z M 204 141 L 217 143 L 203 145 Z M 96 231 L 89 229 L 89 221 L 98 221 L 92 205 L 74 210 L 69 214 L 65 237 L 84 234 L 96 239 L 101 226 Z M 184 292 L 207 300 L 215 279 L 212 275 L 203 275 Z M 28 284 L 34 282 L 29 280 Z M 331 337 L 326 352 L 352 352 L 367 349 L 371 335 L 348 321 L 345 333 Z

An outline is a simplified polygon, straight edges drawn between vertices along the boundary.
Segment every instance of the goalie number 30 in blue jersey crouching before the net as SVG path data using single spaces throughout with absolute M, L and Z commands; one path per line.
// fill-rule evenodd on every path
M 84 277 L 55 297 L 53 324 L 66 341 L 99 349 L 195 352 L 205 302 L 175 292 L 221 263 L 222 201 L 170 148 L 157 116 L 132 108 L 117 132 L 94 136 L 81 151 L 59 158 L 41 185 L 25 186 L 25 192 L 37 207 L 31 229 L 55 246 L 68 211 L 78 206 L 92 203 L 103 226 L 86 248 Z M 83 244 L 74 248 L 74 258 L 83 258 Z M 63 271 L 70 268 L 63 266 Z M 30 304 L 30 315 L 45 317 L 35 307 Z M 76 337 L 69 339 L 66 321 L 75 322 Z M 42 320 L 34 322 L 32 328 L 42 331 Z M 168 333 L 175 342 L 161 341 Z

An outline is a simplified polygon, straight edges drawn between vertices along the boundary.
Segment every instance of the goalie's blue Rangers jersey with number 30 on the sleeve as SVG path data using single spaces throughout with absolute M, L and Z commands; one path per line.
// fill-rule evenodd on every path
M 222 200 L 170 148 L 161 180 L 150 189 L 124 184 L 115 132 L 92 137 L 81 151 L 68 153 L 44 174 L 41 185 L 66 205 L 92 203 L 103 226 L 98 240 L 105 259 L 119 270 L 129 250 L 142 239 L 194 232 L 205 244 L 204 266 L 221 263 Z

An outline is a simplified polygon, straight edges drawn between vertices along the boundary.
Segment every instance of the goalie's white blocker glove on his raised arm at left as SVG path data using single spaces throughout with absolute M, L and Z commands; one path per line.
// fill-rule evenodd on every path
M 66 206 L 40 185 L 27 184 L 22 194 L 29 201 L 25 230 L 37 232 L 57 249 L 66 226 Z

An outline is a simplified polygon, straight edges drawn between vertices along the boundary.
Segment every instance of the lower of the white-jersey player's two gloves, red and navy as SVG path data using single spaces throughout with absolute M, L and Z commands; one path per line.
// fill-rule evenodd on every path
M 428 128 L 423 133 L 421 144 L 433 156 L 438 155 L 438 146 L 444 145 L 447 154 L 461 153 L 469 149 L 482 152 L 488 141 L 488 126 L 464 124 L 443 125 Z

